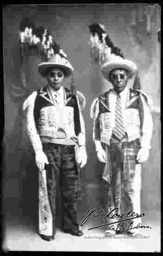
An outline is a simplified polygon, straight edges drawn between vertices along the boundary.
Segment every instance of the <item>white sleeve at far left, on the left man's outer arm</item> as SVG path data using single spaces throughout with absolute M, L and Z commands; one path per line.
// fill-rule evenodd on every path
M 34 122 L 34 102 L 37 96 L 37 92 L 34 91 L 24 102 L 23 110 L 26 115 L 26 128 L 30 138 L 31 145 L 33 146 L 34 152 L 42 149 L 42 142 L 40 136 L 37 133 L 36 124 Z

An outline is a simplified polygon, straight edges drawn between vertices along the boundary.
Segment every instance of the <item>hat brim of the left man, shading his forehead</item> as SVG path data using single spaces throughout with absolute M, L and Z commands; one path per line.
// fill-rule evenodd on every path
M 39 73 L 41 74 L 41 76 L 46 77 L 46 70 L 48 68 L 60 68 L 61 70 L 63 70 L 65 77 L 68 77 L 72 74 L 72 72 L 74 71 L 74 68 L 72 67 L 67 67 L 65 65 L 62 64 L 56 64 L 56 63 L 49 63 L 49 62 L 42 62 L 39 64 L 38 66 L 38 70 Z

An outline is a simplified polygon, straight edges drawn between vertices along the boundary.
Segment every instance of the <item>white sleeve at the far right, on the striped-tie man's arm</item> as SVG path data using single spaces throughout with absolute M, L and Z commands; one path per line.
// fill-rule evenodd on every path
M 150 142 L 152 139 L 152 130 L 153 130 L 153 122 L 152 122 L 152 115 L 150 113 L 150 108 L 147 102 L 145 101 L 144 97 L 141 96 L 142 105 L 144 109 L 144 122 L 142 123 L 142 136 L 141 136 L 141 148 L 150 149 Z

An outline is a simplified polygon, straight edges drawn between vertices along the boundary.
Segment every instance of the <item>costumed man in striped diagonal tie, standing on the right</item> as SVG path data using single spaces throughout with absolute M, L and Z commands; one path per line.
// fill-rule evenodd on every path
M 127 59 L 110 54 L 101 66 L 101 73 L 113 88 L 92 102 L 94 143 L 97 159 L 105 163 L 103 180 L 107 184 L 107 211 L 112 222 L 129 219 L 132 212 L 141 214 L 141 163 L 149 157 L 152 138 L 152 116 L 147 96 L 130 88 L 129 79 L 137 73 L 136 65 Z M 118 214 L 129 212 L 125 218 Z M 132 215 L 132 216 L 133 216 Z M 132 223 L 133 222 L 133 223 Z M 108 223 L 108 219 L 107 219 Z M 125 233 L 136 235 L 133 229 L 141 218 L 117 223 L 105 231 L 106 235 Z

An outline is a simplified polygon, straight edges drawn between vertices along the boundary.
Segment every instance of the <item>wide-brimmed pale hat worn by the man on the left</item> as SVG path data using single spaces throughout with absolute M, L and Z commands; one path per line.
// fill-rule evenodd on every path
M 46 70 L 47 68 L 61 68 L 64 73 L 65 73 L 65 77 L 68 77 L 72 74 L 72 72 L 74 71 L 74 68 L 72 67 L 72 65 L 69 63 L 69 61 L 65 58 L 60 56 L 60 54 L 54 54 L 50 59 L 48 59 L 47 62 L 41 62 L 38 65 L 38 70 L 39 73 L 45 77 L 46 76 Z

